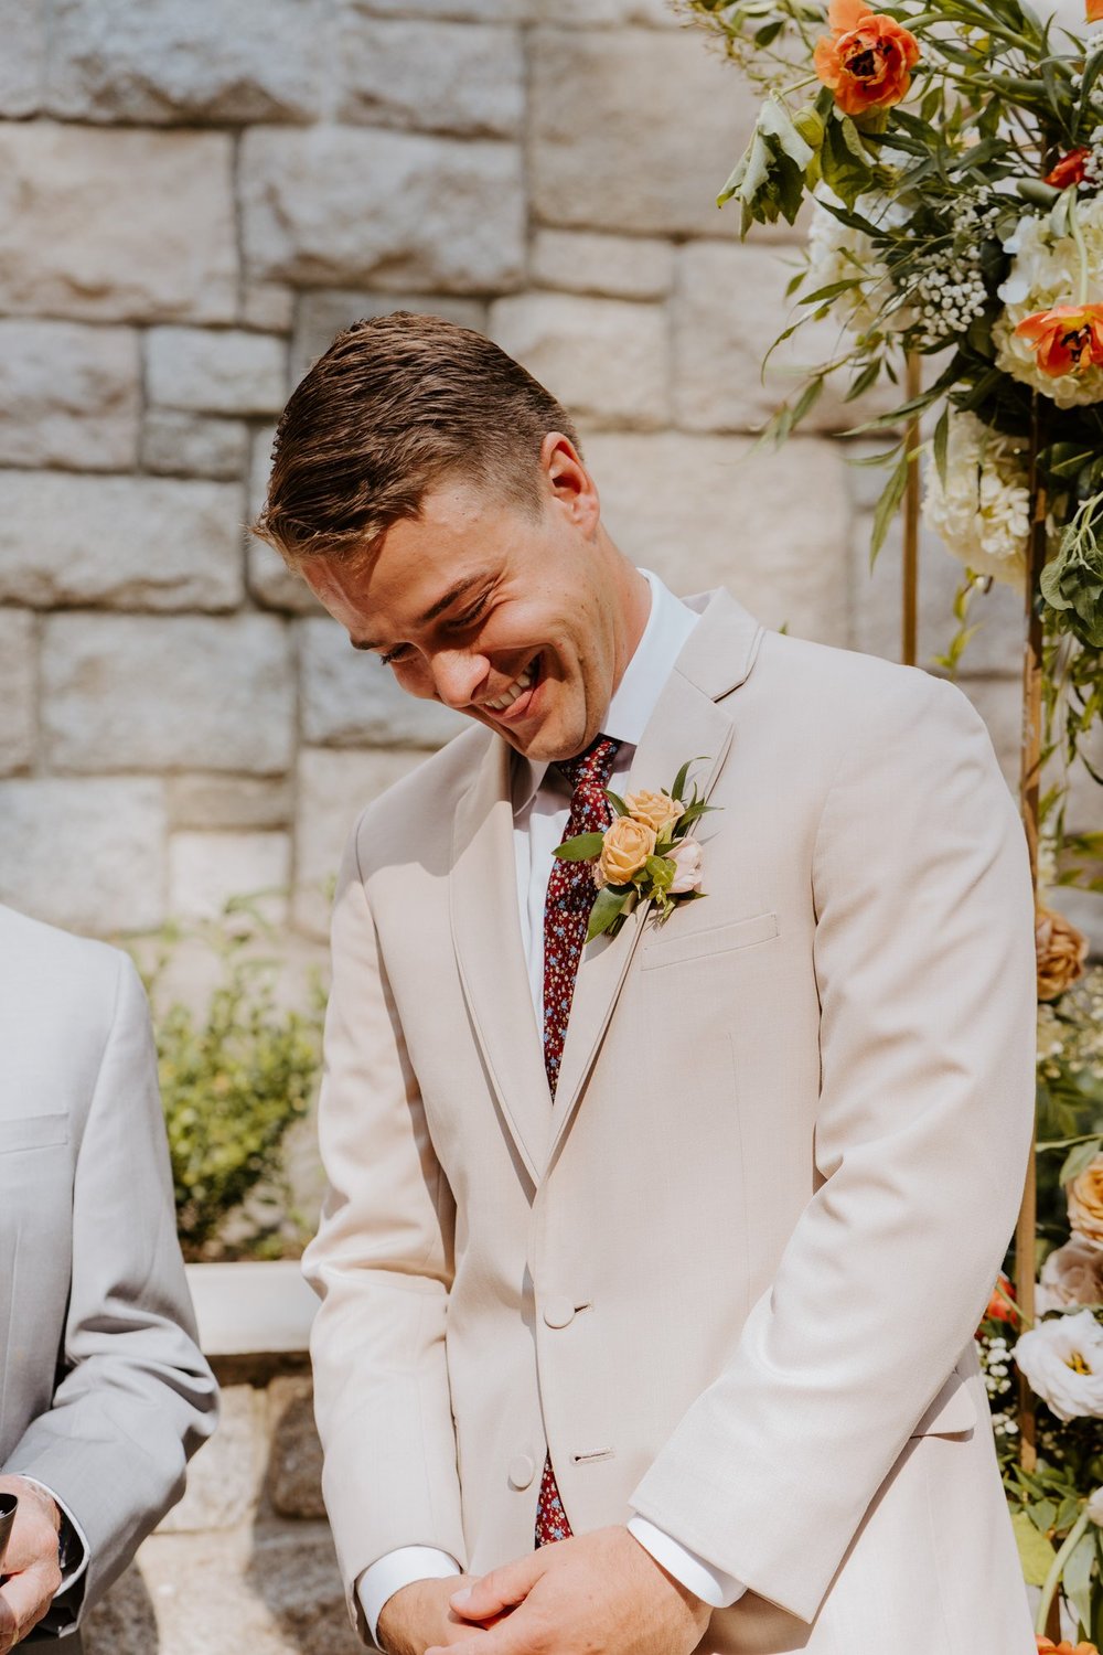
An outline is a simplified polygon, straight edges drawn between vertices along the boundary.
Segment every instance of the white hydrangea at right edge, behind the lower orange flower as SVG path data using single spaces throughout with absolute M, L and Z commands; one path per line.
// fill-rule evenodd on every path
M 1088 290 L 1095 300 L 1103 291 L 1103 195 L 1082 200 L 1077 212 L 1088 257 Z M 1080 255 L 1072 235 L 1055 235 L 1048 213 L 1042 217 L 1025 213 L 1012 237 L 1004 242 L 1004 252 L 1012 255 L 1012 266 L 999 288 L 1004 311 L 992 329 L 997 367 L 1034 386 L 1060 409 L 1103 402 L 1103 367 L 1086 367 L 1080 374 L 1060 377 L 1043 374 L 1030 344 L 1015 338 L 1014 331 L 1035 311 L 1077 303 Z

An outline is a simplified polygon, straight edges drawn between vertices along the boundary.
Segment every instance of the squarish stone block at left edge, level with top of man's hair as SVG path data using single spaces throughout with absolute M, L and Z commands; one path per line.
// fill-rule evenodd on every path
M 129 328 L 0 321 L 0 463 L 129 470 L 139 371 Z

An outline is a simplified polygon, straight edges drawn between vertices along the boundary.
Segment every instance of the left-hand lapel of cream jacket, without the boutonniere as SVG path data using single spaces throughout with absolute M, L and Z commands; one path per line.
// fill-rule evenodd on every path
M 489 738 L 456 806 L 451 937 L 463 993 L 504 1122 L 534 1183 L 544 1175 L 551 1097 L 518 914 L 509 748 Z

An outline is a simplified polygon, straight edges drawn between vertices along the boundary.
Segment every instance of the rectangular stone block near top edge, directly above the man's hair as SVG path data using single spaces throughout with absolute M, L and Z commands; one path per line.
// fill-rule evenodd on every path
M 456 137 L 514 137 L 521 129 L 518 30 L 346 10 L 337 65 L 342 121 Z

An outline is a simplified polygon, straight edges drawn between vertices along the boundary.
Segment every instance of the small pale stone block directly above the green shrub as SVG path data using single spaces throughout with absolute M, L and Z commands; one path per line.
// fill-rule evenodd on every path
M 255 899 L 273 925 L 288 917 L 286 832 L 175 832 L 169 841 L 169 910 L 213 920 L 233 897 Z

